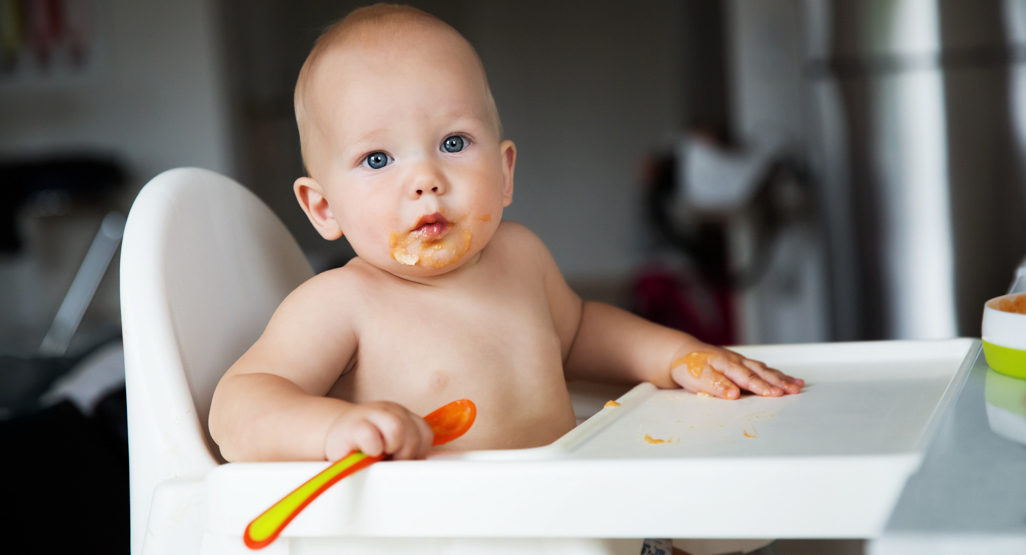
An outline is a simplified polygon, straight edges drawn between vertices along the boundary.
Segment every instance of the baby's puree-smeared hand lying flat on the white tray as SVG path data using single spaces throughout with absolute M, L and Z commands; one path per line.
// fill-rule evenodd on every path
M 734 351 L 712 345 L 682 347 L 674 356 L 670 376 L 692 393 L 706 393 L 721 399 L 737 399 L 741 390 L 763 397 L 793 395 L 804 380 L 791 378 Z

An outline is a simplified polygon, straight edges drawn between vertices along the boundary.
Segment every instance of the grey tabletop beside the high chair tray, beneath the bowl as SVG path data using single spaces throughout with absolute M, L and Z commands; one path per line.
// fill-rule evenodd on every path
M 988 380 L 993 394 L 995 385 L 1012 379 L 991 370 L 979 347 L 969 356 L 973 368 L 883 534 L 869 544 L 873 555 L 1026 554 L 1026 444 L 992 430 L 985 399 Z M 1019 406 L 1001 414 L 1016 426 L 1022 419 L 1026 430 L 1026 417 L 1016 415 L 1026 414 L 1026 382 L 1014 382 L 1023 389 L 1003 402 Z

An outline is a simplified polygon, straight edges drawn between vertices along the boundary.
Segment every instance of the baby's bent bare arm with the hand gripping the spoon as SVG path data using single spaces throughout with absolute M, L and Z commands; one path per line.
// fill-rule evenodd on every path
M 288 295 L 218 384 L 210 435 L 229 461 L 337 460 L 360 449 L 423 458 L 432 432 L 390 402 L 325 397 L 356 352 L 345 279 L 322 274 Z

